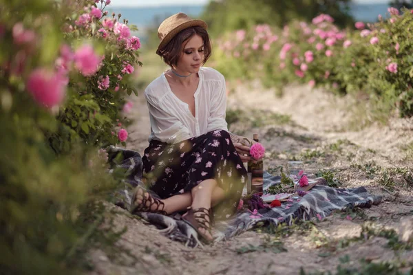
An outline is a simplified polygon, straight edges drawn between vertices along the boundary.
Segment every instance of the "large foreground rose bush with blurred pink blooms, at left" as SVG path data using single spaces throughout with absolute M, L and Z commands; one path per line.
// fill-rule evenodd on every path
M 2 274 L 81 267 L 103 221 L 118 179 L 99 148 L 125 145 L 140 65 L 136 27 L 109 3 L 0 0 Z

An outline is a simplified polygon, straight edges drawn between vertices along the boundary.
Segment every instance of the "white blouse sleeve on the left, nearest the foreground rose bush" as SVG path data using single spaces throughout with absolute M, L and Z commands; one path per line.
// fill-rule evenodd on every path
M 191 138 L 191 133 L 178 118 L 160 108 L 158 102 L 145 92 L 151 121 L 151 131 L 157 140 L 176 144 Z

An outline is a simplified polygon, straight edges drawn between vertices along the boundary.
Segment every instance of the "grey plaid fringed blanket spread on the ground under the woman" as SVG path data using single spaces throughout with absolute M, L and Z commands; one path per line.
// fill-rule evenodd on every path
M 132 191 L 138 185 L 145 188 L 142 179 L 142 159 L 136 151 L 125 150 L 109 146 L 107 148 L 111 169 L 122 168 L 125 175 L 123 184 L 114 193 L 114 203 L 122 208 L 129 210 L 131 204 Z M 324 178 L 309 179 L 309 183 L 317 181 L 304 197 L 289 199 L 282 203 L 282 206 L 275 208 L 263 208 L 256 213 L 244 210 L 239 211 L 232 219 L 215 223 L 214 238 L 215 242 L 226 240 L 240 234 L 246 230 L 254 228 L 257 223 L 279 223 L 291 224 L 294 220 L 308 220 L 312 217 L 323 219 L 333 210 L 346 210 L 355 207 L 368 207 L 377 205 L 381 202 L 380 196 L 373 196 L 368 193 L 366 188 L 331 188 L 326 186 Z M 264 190 L 269 186 L 281 184 L 281 177 L 264 173 Z M 155 193 L 148 190 L 153 197 L 158 197 Z M 190 225 L 180 221 L 180 215 L 175 214 L 165 216 L 162 214 L 142 212 L 140 217 L 156 225 L 160 232 L 169 236 L 170 239 L 181 241 L 190 247 L 201 245 L 198 234 Z

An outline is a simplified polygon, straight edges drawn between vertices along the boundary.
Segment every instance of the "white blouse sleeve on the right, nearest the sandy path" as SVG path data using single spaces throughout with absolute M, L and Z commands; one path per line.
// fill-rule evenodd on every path
M 225 121 L 226 115 L 226 87 L 225 78 L 220 75 L 220 82 L 216 91 L 212 91 L 211 111 L 208 118 L 207 131 L 225 130 L 228 131 L 228 124 Z

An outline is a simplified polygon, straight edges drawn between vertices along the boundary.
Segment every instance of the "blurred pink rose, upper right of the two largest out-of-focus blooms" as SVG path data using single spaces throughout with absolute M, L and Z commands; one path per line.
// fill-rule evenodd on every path
M 85 44 L 74 53 L 74 65 L 83 76 L 92 76 L 99 69 L 100 57 L 92 45 Z

